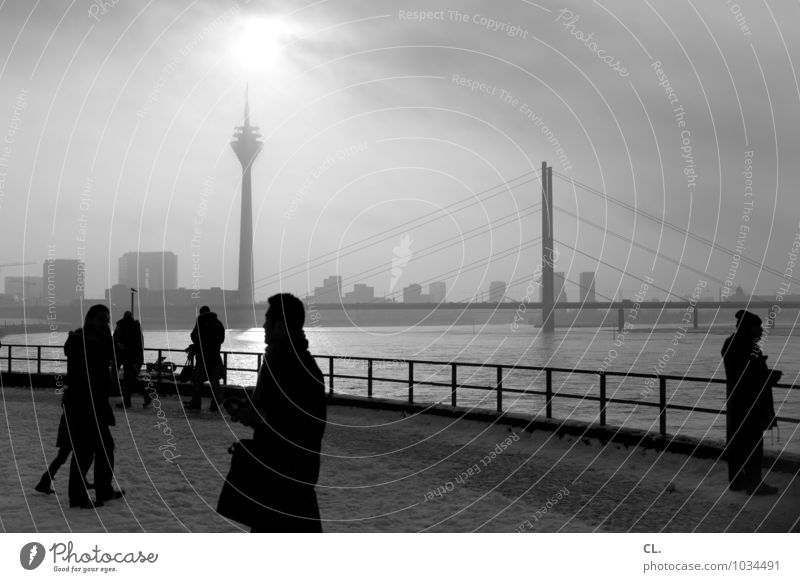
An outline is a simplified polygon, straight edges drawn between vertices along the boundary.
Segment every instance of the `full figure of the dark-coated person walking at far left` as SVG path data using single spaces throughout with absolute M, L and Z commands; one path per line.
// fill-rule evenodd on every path
M 99 507 L 103 501 L 119 498 L 124 493 L 114 491 L 111 486 L 114 439 L 109 427 L 116 422 L 108 402 L 114 386 L 110 320 L 105 305 L 93 305 L 86 313 L 83 328 L 70 332 L 64 344 L 69 389 L 64 393 L 63 407 L 67 434 L 72 442 L 70 507 Z M 86 473 L 92 462 L 97 495 L 94 503 L 89 499 L 86 483 Z

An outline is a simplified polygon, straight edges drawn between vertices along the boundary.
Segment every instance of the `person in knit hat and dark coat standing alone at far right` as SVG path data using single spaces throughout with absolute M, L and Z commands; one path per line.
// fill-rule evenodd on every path
M 759 340 L 761 319 L 749 311 L 736 313 L 736 331 L 725 340 L 722 357 L 727 380 L 725 429 L 728 480 L 732 491 L 771 495 L 778 490 L 761 481 L 764 431 L 776 424 L 772 387 L 781 372 L 767 368 Z

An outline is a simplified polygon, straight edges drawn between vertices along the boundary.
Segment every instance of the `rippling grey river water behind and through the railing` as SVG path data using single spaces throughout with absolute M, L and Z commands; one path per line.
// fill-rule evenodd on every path
M 345 358 L 335 362 L 335 372 L 364 379 L 335 380 L 337 392 L 366 395 L 366 365 L 347 358 L 387 358 L 390 362 L 377 362 L 373 366 L 375 378 L 373 394 L 376 397 L 408 398 L 408 366 L 397 362 L 400 359 L 423 359 L 442 362 L 441 365 L 416 364 L 416 382 L 440 382 L 446 386 L 414 387 L 416 402 L 450 403 L 451 367 L 448 362 L 468 362 L 495 365 L 550 366 L 597 370 L 603 367 L 609 372 L 642 372 L 701 378 L 724 378 L 720 349 L 731 330 L 714 328 L 682 333 L 674 325 L 648 330 L 632 329 L 620 334 L 609 329 L 569 328 L 545 335 L 538 328 L 509 325 L 441 326 L 441 327 L 373 327 L 373 328 L 324 328 L 307 327 L 306 334 L 311 352 L 315 355 L 336 355 Z M 27 339 L 27 341 L 26 341 Z M 3 338 L 4 347 L 0 357 L 5 358 L 7 344 L 29 346 L 52 346 L 42 349 L 44 358 L 62 358 L 66 333 L 9 335 Z M 175 350 L 167 353 L 177 364 L 183 363 L 183 348 L 189 344 L 189 330 L 152 331 L 145 330 L 145 345 L 148 348 Z M 263 353 L 264 339 L 260 328 L 228 330 L 223 347 L 229 351 L 250 352 L 251 355 L 230 355 L 228 368 L 257 366 L 257 354 Z M 14 348 L 13 355 L 25 357 L 24 348 Z M 36 350 L 28 348 L 29 357 Z M 770 367 L 783 370 L 783 382 L 800 383 L 800 337 L 775 330 L 766 337 L 764 353 L 769 356 Z M 155 352 L 147 352 L 152 361 Z M 323 372 L 328 372 L 328 360 L 319 360 Z M 3 369 L 7 364 L 3 362 Z M 63 364 L 44 362 L 43 371 L 63 371 Z M 36 362 L 15 360 L 13 369 L 36 371 Z M 379 378 L 402 380 L 381 381 Z M 231 384 L 253 385 L 254 371 L 229 372 Z M 496 369 L 487 367 L 459 367 L 457 383 L 472 386 L 495 386 Z M 505 389 L 544 390 L 545 376 L 538 371 L 509 371 L 503 375 L 502 405 L 512 410 L 531 415 L 544 414 L 544 397 L 524 395 Z M 658 385 L 642 378 L 619 379 L 607 377 L 607 396 L 657 403 Z M 598 396 L 597 375 L 553 374 L 553 390 L 556 394 L 568 393 L 579 396 Z M 459 388 L 458 405 L 487 409 L 497 406 L 497 392 Z M 724 384 L 706 382 L 667 383 L 667 400 L 672 404 L 721 409 L 724 406 Z M 800 390 L 776 388 L 775 409 L 778 416 L 800 418 Z M 553 416 L 562 419 L 597 421 L 599 403 L 595 401 L 558 398 L 553 401 Z M 658 409 L 631 404 L 609 403 L 607 422 L 612 425 L 658 430 Z M 699 438 L 723 440 L 725 419 L 723 416 L 701 412 L 668 411 L 667 430 L 671 434 L 683 434 Z M 780 423 L 780 439 L 777 431 L 767 433 L 765 446 L 800 452 L 798 425 Z

